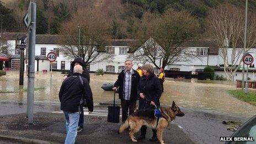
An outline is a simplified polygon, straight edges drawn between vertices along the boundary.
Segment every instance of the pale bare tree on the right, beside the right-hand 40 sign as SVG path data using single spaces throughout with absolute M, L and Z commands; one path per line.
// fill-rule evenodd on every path
M 255 15 L 249 14 L 247 49 L 249 51 L 256 42 Z M 243 36 L 244 36 L 244 10 L 228 4 L 212 9 L 207 18 L 208 32 L 215 39 L 220 48 L 220 56 L 228 80 L 231 80 L 242 63 Z M 228 47 L 225 46 L 228 39 Z

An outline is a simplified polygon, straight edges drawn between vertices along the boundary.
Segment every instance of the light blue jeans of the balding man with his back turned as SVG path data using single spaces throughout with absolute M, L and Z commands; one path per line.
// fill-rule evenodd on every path
M 68 113 L 63 111 L 66 119 L 66 140 L 65 144 L 73 144 L 77 137 L 77 126 L 79 120 L 79 113 Z

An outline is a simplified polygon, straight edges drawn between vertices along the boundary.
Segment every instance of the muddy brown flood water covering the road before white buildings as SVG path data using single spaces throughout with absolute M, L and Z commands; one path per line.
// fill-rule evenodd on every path
M 24 74 L 26 75 L 26 74 Z M 35 102 L 58 103 L 58 91 L 63 81 L 61 72 L 52 72 L 53 82 L 50 87 L 50 72 L 35 73 Z M 113 100 L 114 93 L 104 91 L 103 83 L 115 82 L 117 74 L 95 76 L 90 73 L 90 87 L 93 91 L 94 103 Z M 24 76 L 24 88 L 27 77 Z M 164 93 L 161 104 L 171 105 L 174 100 L 182 108 L 215 111 L 219 113 L 244 116 L 249 118 L 256 114 L 256 106 L 242 102 L 228 94 L 228 90 L 236 89 L 233 82 L 198 81 L 197 79 L 169 79 L 164 82 Z M 0 101 L 26 102 L 26 92 L 19 92 L 19 72 L 9 71 L 7 76 L 0 77 L 0 90 L 10 93 L 0 93 Z M 256 92 L 256 91 L 255 91 Z M 118 95 L 116 95 L 118 97 Z

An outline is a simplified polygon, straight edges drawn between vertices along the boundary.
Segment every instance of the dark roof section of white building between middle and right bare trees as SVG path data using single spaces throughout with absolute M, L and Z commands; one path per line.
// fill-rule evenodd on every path
M 185 47 L 209 47 L 208 54 L 218 55 L 218 46 L 213 40 L 189 40 L 185 41 L 182 46 Z

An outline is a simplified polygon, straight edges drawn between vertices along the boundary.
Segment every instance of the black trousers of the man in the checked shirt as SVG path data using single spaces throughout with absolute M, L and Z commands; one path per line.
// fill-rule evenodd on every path
M 125 120 L 128 117 L 128 109 L 129 109 L 129 115 L 134 113 L 134 110 L 136 108 L 136 100 L 134 102 L 131 102 L 130 100 L 121 99 L 121 108 L 122 108 L 122 122 L 125 122 Z

